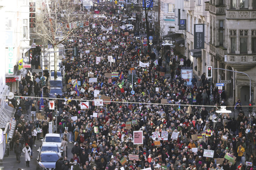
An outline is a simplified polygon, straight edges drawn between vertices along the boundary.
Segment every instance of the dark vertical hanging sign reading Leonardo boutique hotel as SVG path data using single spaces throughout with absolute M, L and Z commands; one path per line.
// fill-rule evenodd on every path
M 194 24 L 194 49 L 205 48 L 205 25 Z

